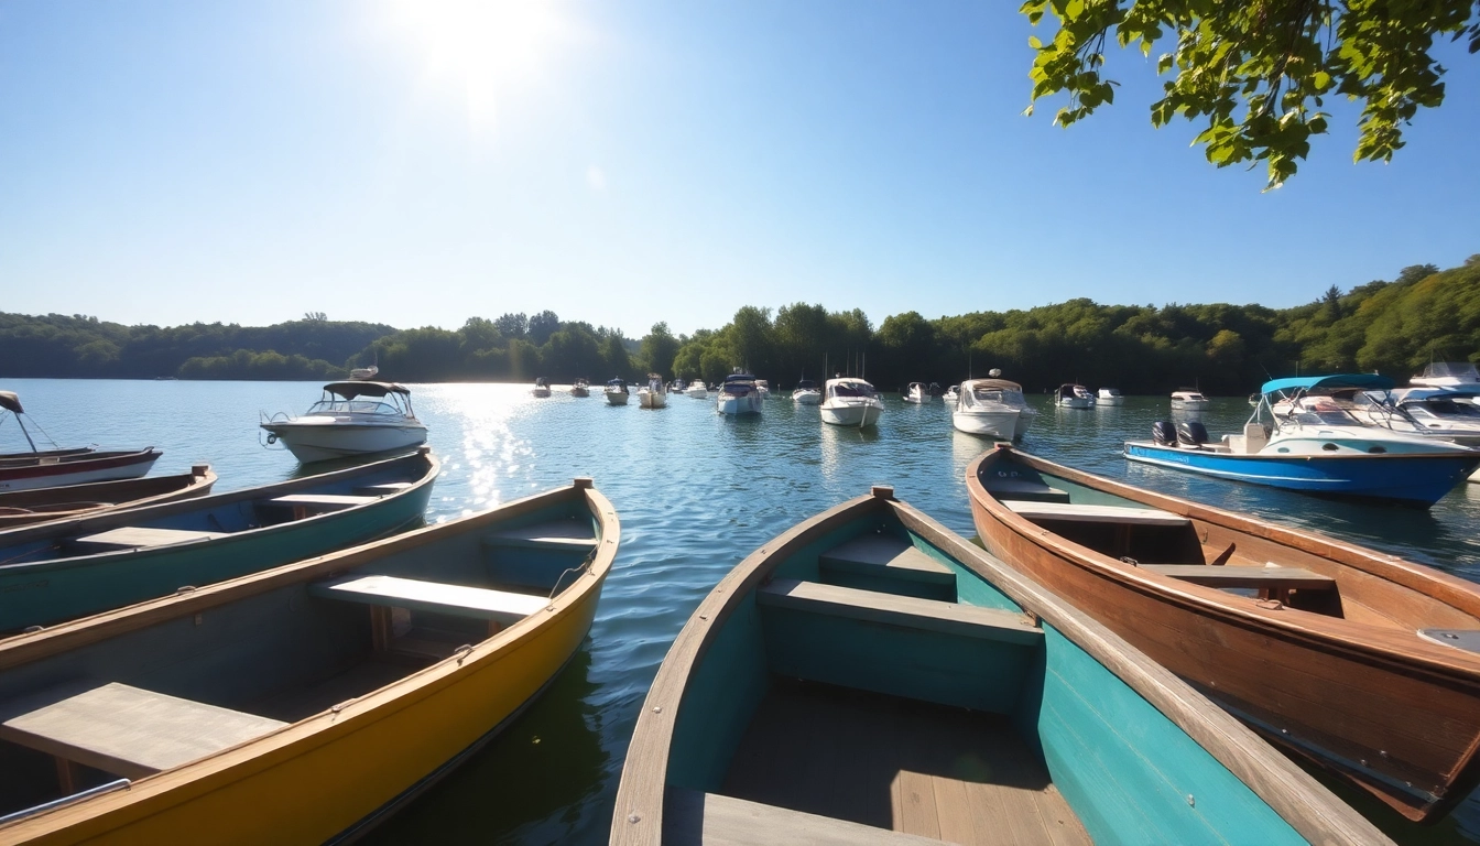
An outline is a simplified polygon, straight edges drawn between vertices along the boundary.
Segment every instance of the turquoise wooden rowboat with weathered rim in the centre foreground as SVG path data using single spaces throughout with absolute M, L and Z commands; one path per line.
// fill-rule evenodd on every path
M 704 599 L 614 845 L 1388 843 L 1273 747 L 888 487 Z

